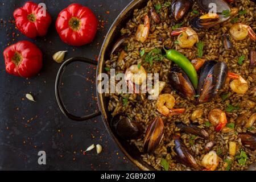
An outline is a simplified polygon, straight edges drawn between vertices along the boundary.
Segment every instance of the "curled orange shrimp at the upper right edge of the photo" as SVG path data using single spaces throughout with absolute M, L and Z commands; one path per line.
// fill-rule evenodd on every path
M 230 28 L 230 34 L 235 40 L 243 40 L 249 34 L 250 38 L 256 40 L 256 34 L 253 29 L 244 23 L 236 23 Z

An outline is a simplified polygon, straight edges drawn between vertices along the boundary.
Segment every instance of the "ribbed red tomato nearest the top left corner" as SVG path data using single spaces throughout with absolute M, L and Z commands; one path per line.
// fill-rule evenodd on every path
M 43 14 L 44 12 L 46 13 L 45 15 Z M 13 16 L 16 27 L 28 38 L 46 35 L 52 22 L 48 12 L 34 2 L 26 2 L 23 7 L 14 11 Z

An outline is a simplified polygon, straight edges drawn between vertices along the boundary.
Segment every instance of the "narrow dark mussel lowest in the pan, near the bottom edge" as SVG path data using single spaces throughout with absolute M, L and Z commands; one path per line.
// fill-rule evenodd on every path
M 175 148 L 177 156 L 177 161 L 195 169 L 199 169 L 199 165 L 196 162 L 196 159 L 189 152 L 188 148 L 180 139 L 175 139 Z

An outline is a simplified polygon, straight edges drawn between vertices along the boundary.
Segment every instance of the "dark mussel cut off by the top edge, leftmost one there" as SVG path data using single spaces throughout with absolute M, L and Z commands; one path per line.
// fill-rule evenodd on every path
M 172 1 L 172 15 L 174 16 L 175 20 L 178 21 L 185 14 L 188 13 L 190 7 L 192 5 L 192 0 L 174 0 Z

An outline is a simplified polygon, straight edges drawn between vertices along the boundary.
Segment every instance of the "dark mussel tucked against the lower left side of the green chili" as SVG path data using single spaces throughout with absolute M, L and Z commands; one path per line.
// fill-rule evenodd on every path
M 179 67 L 172 67 L 168 75 L 172 89 L 183 97 L 194 98 L 196 92 L 186 73 Z

